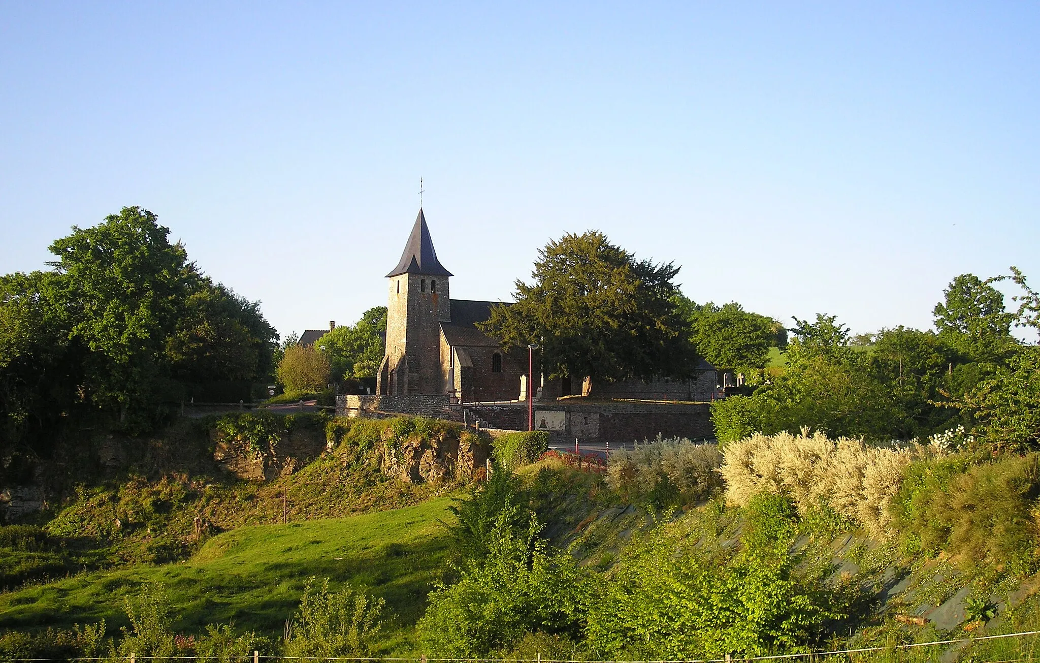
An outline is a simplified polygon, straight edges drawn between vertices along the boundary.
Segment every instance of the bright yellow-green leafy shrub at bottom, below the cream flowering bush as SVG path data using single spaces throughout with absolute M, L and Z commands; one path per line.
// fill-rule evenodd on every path
M 848 614 L 843 586 L 798 536 L 788 498 L 749 502 L 742 545 L 723 545 L 697 518 L 661 526 L 622 554 L 593 603 L 589 644 L 602 659 L 720 659 L 805 651 Z M 826 552 L 826 551 L 825 551 Z M 852 590 L 850 590 L 852 591 Z

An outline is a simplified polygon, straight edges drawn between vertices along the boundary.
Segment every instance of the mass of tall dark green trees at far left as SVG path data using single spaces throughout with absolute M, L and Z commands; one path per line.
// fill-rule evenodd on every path
M 50 270 L 0 277 L 0 431 L 38 445 L 72 417 L 147 430 L 200 385 L 265 379 L 278 333 L 125 207 L 50 246 Z

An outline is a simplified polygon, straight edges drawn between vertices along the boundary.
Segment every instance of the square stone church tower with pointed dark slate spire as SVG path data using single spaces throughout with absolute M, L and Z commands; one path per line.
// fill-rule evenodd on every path
M 451 321 L 448 277 L 419 209 L 400 262 L 389 279 L 386 356 L 378 393 L 443 393 L 441 323 Z

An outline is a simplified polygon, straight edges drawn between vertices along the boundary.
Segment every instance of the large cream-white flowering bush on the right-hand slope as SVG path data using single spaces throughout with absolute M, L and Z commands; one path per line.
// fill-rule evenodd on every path
M 868 447 L 860 439 L 826 434 L 756 433 L 726 445 L 720 473 L 726 500 L 747 505 L 761 492 L 789 496 L 802 515 L 827 506 L 872 536 L 892 533 L 888 505 L 900 489 L 903 469 L 927 452 Z

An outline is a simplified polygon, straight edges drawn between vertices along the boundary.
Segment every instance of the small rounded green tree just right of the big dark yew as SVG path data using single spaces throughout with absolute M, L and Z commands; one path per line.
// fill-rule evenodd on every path
M 777 321 L 746 311 L 736 302 L 695 307 L 691 316 L 694 347 L 717 368 L 762 368 L 770 348 L 781 345 Z

